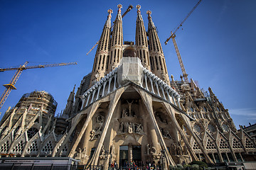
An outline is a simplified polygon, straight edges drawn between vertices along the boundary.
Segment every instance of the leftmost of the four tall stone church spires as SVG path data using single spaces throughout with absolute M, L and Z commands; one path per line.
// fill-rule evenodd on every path
M 108 69 L 110 56 L 108 55 L 110 47 L 110 34 L 111 34 L 111 13 L 112 9 L 107 10 L 109 13 L 107 16 L 107 21 L 102 30 L 102 35 L 100 37 L 99 45 L 97 47 L 95 61 L 92 68 L 92 77 L 90 79 L 90 86 L 96 81 L 100 81 L 102 77 L 105 76 L 105 72 Z

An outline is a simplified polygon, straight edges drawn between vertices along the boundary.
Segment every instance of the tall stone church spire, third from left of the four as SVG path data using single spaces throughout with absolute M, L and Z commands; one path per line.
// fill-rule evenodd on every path
M 144 67 L 149 69 L 149 49 L 146 38 L 146 30 L 144 26 L 144 21 L 142 19 L 140 5 L 136 6 L 137 8 L 137 21 L 136 21 L 136 35 L 135 35 L 135 44 L 137 47 L 137 57 L 142 60 Z

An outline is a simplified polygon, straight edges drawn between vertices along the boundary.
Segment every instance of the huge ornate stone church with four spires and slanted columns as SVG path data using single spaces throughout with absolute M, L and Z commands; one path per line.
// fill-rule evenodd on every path
M 240 162 L 255 153 L 255 141 L 235 128 L 212 89 L 206 94 L 193 79 L 169 78 L 151 11 L 146 31 L 137 6 L 135 44 L 123 40 L 121 8 L 113 27 L 107 11 L 92 72 L 70 92 L 61 115 L 46 91 L 24 94 L 6 111 L 2 157 L 70 157 L 107 169 L 112 162 Z

